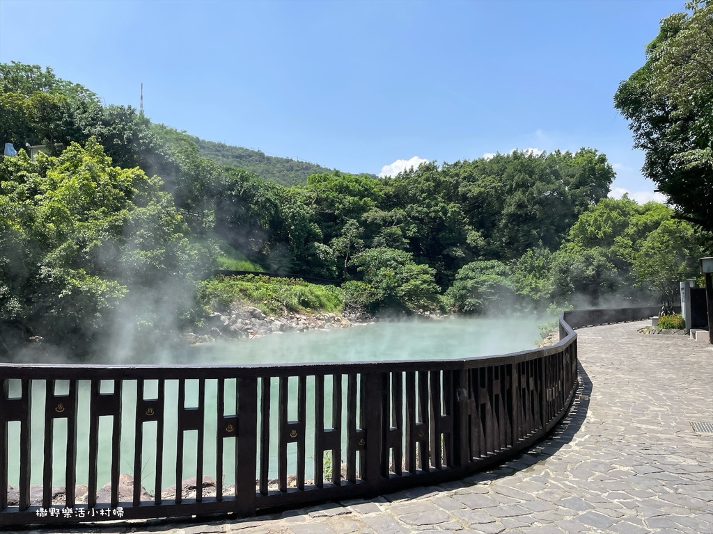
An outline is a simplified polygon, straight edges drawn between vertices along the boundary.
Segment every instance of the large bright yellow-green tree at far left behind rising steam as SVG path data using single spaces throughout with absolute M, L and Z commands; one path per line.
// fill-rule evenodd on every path
M 77 351 L 120 320 L 148 334 L 175 328 L 205 265 L 160 185 L 112 167 L 93 139 L 59 157 L 4 158 L 1 318 Z

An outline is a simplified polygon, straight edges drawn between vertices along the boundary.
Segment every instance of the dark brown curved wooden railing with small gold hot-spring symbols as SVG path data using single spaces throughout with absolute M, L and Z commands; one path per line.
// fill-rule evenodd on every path
M 563 417 L 571 326 L 650 315 L 566 312 L 553 347 L 468 360 L 0 364 L 0 525 L 247 516 L 461 478 Z

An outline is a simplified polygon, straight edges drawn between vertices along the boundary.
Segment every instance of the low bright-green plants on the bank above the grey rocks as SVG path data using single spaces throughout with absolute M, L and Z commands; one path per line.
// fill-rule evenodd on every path
M 216 276 L 199 284 L 199 302 L 212 310 L 227 311 L 233 304 L 253 306 L 266 315 L 340 313 L 342 290 L 294 278 L 269 276 Z

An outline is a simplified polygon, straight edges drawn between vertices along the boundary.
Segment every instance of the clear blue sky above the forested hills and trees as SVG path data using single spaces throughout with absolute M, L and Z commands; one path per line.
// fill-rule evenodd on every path
M 0 0 L 0 62 L 203 139 L 346 172 L 593 147 L 652 198 L 612 97 L 684 0 Z M 417 158 L 417 159 L 413 159 Z M 389 167 L 390 166 L 390 167 Z

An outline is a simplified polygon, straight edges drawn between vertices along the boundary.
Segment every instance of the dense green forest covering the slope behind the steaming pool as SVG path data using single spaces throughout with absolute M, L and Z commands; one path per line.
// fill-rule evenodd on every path
M 19 152 L 0 162 L 0 323 L 73 351 L 200 324 L 226 257 L 342 281 L 352 310 L 521 313 L 670 301 L 711 242 L 662 204 L 608 199 L 593 148 L 287 187 L 20 63 L 0 65 L 0 141 Z

